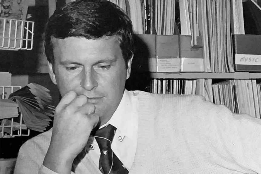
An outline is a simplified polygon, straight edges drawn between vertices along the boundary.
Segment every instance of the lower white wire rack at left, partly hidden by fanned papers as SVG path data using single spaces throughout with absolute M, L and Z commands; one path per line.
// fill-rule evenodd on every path
M 8 98 L 8 96 L 21 89 L 21 86 L 0 86 L 1 99 Z M 29 136 L 30 130 L 23 123 L 21 112 L 16 118 L 0 120 L 0 138 L 13 138 L 15 136 Z

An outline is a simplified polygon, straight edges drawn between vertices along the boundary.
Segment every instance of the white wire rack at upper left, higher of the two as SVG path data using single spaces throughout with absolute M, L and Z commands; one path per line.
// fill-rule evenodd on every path
M 0 50 L 32 50 L 34 22 L 0 18 Z

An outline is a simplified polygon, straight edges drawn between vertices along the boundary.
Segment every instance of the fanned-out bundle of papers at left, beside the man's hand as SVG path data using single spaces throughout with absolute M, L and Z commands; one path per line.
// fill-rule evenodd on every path
M 49 126 L 55 107 L 49 105 L 49 90 L 39 84 L 30 83 L 10 94 L 10 100 L 18 103 L 25 125 L 35 131 L 43 132 Z

